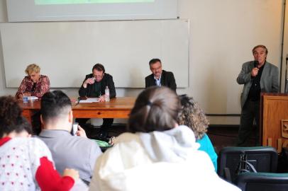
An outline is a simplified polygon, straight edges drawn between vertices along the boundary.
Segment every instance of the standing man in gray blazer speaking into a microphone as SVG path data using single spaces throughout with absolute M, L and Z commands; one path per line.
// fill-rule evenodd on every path
M 238 84 L 244 84 L 237 146 L 249 146 L 247 141 L 253 134 L 254 120 L 257 128 L 255 145 L 260 145 L 260 93 L 279 92 L 279 71 L 277 66 L 266 61 L 267 48 L 257 45 L 252 52 L 254 61 L 245 62 L 237 78 Z

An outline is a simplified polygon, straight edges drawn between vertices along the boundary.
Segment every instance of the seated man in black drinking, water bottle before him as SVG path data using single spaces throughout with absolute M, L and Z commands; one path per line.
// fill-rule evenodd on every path
M 95 64 L 92 68 L 92 74 L 86 75 L 81 88 L 79 89 L 80 97 L 99 98 L 99 102 L 105 101 L 105 88 L 108 86 L 110 91 L 110 98 L 116 97 L 115 86 L 113 77 L 110 74 L 105 73 L 105 68 L 102 64 Z M 87 118 L 76 119 L 80 126 L 84 126 L 87 122 Z M 103 125 L 101 125 L 100 139 L 107 137 L 107 127 L 110 127 L 113 123 L 113 118 L 104 118 Z

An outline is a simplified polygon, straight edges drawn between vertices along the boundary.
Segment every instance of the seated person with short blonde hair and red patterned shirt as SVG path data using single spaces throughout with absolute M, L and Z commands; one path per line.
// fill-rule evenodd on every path
M 25 76 L 21 82 L 21 85 L 16 92 L 16 98 L 23 98 L 23 96 L 35 96 L 41 98 L 44 93 L 50 89 L 50 81 L 48 76 L 40 74 L 40 67 L 36 64 L 30 64 L 27 66 Z

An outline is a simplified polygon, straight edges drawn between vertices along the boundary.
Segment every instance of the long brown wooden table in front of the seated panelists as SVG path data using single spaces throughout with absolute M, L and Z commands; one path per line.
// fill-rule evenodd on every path
M 128 118 L 135 103 L 135 98 L 118 97 L 109 102 L 75 103 L 72 99 L 72 111 L 74 118 Z M 40 100 L 31 100 L 28 103 L 19 101 L 23 108 L 22 115 L 31 122 L 31 116 L 40 110 Z

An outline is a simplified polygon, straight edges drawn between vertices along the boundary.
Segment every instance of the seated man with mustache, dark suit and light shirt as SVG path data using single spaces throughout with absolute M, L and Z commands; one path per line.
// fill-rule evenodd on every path
M 151 59 L 149 62 L 152 74 L 145 77 L 145 88 L 150 86 L 167 86 L 176 91 L 177 85 L 171 71 L 162 70 L 160 59 Z

